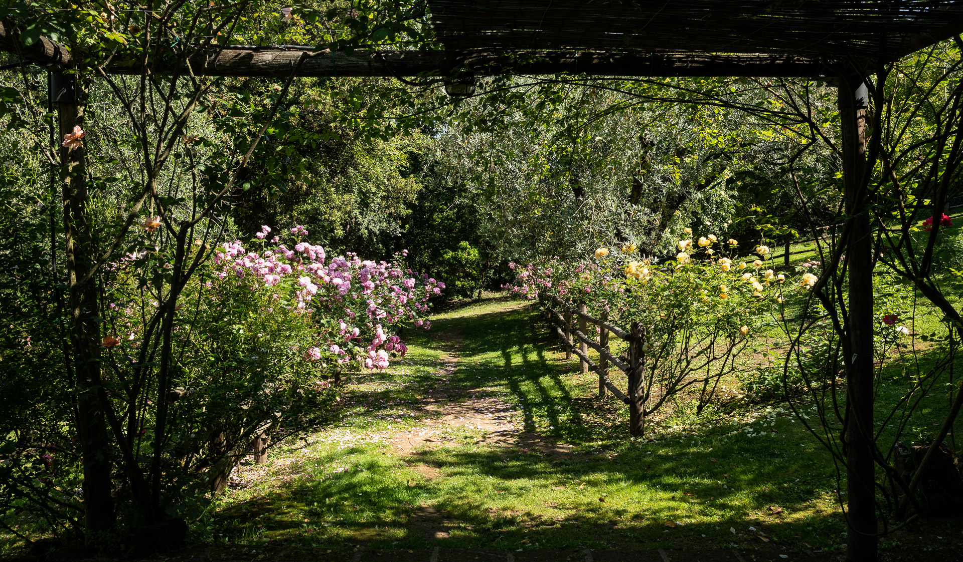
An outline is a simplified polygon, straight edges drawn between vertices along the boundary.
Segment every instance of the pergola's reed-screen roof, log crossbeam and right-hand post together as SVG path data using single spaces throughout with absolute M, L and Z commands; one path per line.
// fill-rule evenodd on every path
M 864 80 L 880 64 L 963 32 L 956 0 L 428 0 L 434 50 L 316 51 L 313 46 L 197 46 L 153 74 L 195 76 L 435 76 L 558 74 L 834 78 L 846 198 L 846 428 L 849 558 L 875 559 L 872 442 L 872 231 L 865 168 Z M 48 38 L 20 44 L 0 24 L 0 48 L 54 72 L 74 65 Z M 311 51 L 305 58 L 305 52 Z M 109 74 L 142 74 L 131 59 Z M 64 111 L 72 100 L 62 100 Z M 69 119 L 61 119 L 61 134 Z M 861 429 L 862 428 L 862 429 Z M 872 431 L 869 431 L 872 433 Z

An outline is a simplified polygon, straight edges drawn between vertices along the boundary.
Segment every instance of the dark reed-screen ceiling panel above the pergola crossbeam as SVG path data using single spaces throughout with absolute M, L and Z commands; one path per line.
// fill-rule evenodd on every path
M 963 0 L 429 0 L 447 49 L 894 60 L 963 31 Z

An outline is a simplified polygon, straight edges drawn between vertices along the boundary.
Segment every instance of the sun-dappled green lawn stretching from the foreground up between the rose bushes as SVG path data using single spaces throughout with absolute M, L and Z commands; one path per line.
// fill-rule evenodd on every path
M 353 375 L 341 421 L 274 451 L 253 485 L 231 491 L 212 530 L 232 542 L 330 549 L 846 543 L 831 459 L 788 408 L 701 420 L 680 410 L 633 441 L 626 408 L 593 397 L 595 375 L 565 361 L 536 320 L 527 304 L 505 299 L 438 315 L 404 360 Z M 456 369 L 439 375 L 450 351 Z M 524 432 L 505 445 L 452 427 L 444 444 L 397 456 L 387 439 L 424 421 L 419 398 L 441 387 L 455 399 L 500 399 Z M 426 479 L 412 468 L 419 464 L 440 476 Z M 424 507 L 445 538 L 410 523 Z

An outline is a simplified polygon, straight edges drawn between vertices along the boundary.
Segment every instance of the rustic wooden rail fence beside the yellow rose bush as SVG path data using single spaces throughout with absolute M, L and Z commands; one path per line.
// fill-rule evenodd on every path
M 606 391 L 629 406 L 629 433 L 641 436 L 645 429 L 645 402 L 643 385 L 642 338 L 640 337 L 638 322 L 633 322 L 629 330 L 610 323 L 608 314 L 603 312 L 602 318 L 597 319 L 586 312 L 585 303 L 574 306 L 561 300 L 557 296 L 550 296 L 545 302 L 545 311 L 558 333 L 562 345 L 565 347 L 565 358 L 571 359 L 574 353 L 579 357 L 580 370 L 587 373 L 594 371 L 599 376 L 599 397 L 605 397 Z M 578 319 L 576 325 L 572 319 Z M 598 341 L 586 335 L 588 324 L 599 327 Z M 594 331 L 594 330 L 593 330 Z M 609 345 L 609 336 L 623 340 L 629 344 L 628 353 L 616 356 Z M 578 340 L 578 345 L 575 344 Z M 599 354 L 596 364 L 588 357 L 588 347 Z M 625 373 L 628 378 L 628 388 L 622 392 L 609 378 L 609 365 Z

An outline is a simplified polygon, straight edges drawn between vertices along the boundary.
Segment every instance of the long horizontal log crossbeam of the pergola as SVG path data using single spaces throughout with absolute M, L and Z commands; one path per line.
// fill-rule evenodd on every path
M 13 26 L 0 22 L 0 49 L 35 64 L 53 68 L 74 65 L 70 51 L 49 38 L 30 46 L 20 43 Z M 600 53 L 574 51 L 322 51 L 310 46 L 253 47 L 226 45 L 197 48 L 186 64 L 173 53 L 148 65 L 153 74 L 195 76 L 281 77 L 291 74 L 300 58 L 299 76 L 437 76 L 471 74 L 586 74 L 590 76 L 761 76 L 809 77 L 826 73 L 815 58 L 791 55 Z M 107 74 L 141 74 L 132 59 L 115 59 L 102 68 Z

